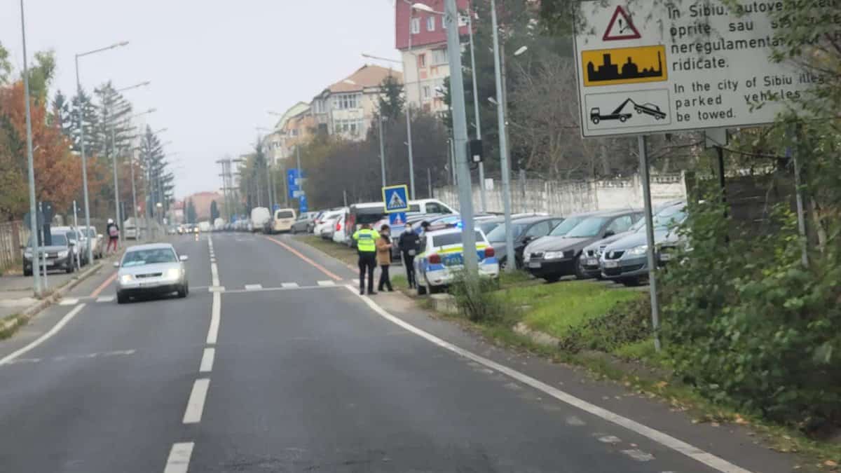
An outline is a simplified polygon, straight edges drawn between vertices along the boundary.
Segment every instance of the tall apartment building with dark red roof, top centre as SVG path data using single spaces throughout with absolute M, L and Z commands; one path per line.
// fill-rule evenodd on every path
M 432 113 L 447 109 L 444 103 L 444 79 L 450 75 L 447 58 L 447 27 L 444 0 L 423 2 L 433 12 L 413 8 L 416 2 L 396 0 L 394 37 L 403 60 L 407 99 L 412 107 Z M 466 11 L 468 0 L 457 0 L 459 11 Z M 468 35 L 467 18 L 458 20 L 458 32 Z

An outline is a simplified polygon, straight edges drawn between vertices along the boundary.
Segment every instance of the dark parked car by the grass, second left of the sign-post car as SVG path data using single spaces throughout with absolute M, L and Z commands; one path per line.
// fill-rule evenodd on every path
M 642 216 L 641 210 L 615 210 L 591 215 L 563 237 L 544 237 L 533 242 L 526 248 L 523 261 L 529 273 L 549 282 L 567 275 L 584 279 L 586 274 L 581 267 L 584 247 L 627 231 Z

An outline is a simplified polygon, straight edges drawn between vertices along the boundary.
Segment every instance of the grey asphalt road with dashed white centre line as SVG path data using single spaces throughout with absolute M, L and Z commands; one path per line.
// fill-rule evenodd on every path
M 187 299 L 118 306 L 109 269 L 0 343 L 0 471 L 793 465 L 738 429 L 492 347 L 401 295 L 360 297 L 345 265 L 291 238 L 174 244 L 189 257 Z

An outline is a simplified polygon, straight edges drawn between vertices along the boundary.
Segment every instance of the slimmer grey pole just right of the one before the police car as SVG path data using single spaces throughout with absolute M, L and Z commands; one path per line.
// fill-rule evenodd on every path
M 511 182 L 510 164 L 508 163 L 508 131 L 505 125 L 505 88 L 503 77 L 505 70 L 500 64 L 500 30 L 496 23 L 496 2 L 490 0 L 491 28 L 494 29 L 494 68 L 496 76 L 496 117 L 499 121 L 500 132 L 500 168 L 502 169 L 502 210 L 505 213 L 505 247 L 510 254 L 514 254 L 514 233 L 511 226 Z M 452 68 L 450 69 L 453 70 Z M 505 271 L 513 272 L 516 264 L 513 261 L 505 265 Z

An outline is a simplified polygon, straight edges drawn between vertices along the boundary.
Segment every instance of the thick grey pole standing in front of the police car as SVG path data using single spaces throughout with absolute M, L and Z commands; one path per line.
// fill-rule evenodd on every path
M 458 204 L 463 221 L 462 246 L 464 270 L 468 279 L 479 272 L 476 254 L 476 234 L 473 228 L 473 189 L 470 183 L 468 162 L 468 124 L 464 106 L 464 81 L 462 77 L 462 48 L 458 38 L 458 8 L 456 0 L 446 0 L 444 19 L 447 21 L 447 55 L 450 56 L 450 84 L 452 90 L 452 142 L 453 157 L 458 164 Z M 513 251 L 513 246 L 510 250 Z

